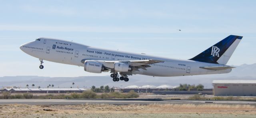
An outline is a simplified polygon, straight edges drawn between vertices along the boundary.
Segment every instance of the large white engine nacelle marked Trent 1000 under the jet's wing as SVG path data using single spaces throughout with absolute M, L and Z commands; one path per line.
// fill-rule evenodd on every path
M 86 60 L 84 62 L 84 71 L 92 73 L 101 73 L 102 71 L 104 71 L 104 66 L 100 62 L 96 62 L 94 60 Z

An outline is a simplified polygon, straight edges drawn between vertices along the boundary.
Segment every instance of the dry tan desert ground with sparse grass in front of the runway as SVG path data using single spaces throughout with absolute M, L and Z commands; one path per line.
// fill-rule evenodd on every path
M 255 118 L 256 106 L 227 104 L 0 105 L 0 118 Z

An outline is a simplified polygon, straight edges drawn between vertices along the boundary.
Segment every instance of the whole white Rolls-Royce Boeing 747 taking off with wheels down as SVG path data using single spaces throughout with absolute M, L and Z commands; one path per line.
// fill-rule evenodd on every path
M 128 76 L 133 74 L 166 77 L 229 73 L 234 67 L 226 64 L 241 39 L 242 36 L 230 35 L 188 60 L 104 50 L 52 38 L 38 38 L 20 49 L 39 58 L 40 69 L 44 68 L 43 60 L 47 60 L 83 66 L 87 72 L 110 72 L 114 82 L 128 82 Z

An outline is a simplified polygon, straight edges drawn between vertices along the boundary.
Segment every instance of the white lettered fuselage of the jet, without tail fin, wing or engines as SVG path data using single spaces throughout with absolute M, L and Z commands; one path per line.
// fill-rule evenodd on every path
M 223 64 L 211 64 L 197 62 L 193 60 L 180 60 L 171 58 L 160 58 L 148 56 L 146 54 L 135 54 L 121 51 L 104 50 L 90 46 L 51 38 L 39 38 L 32 42 L 20 46 L 20 49 L 27 54 L 39 58 L 62 64 L 84 66 L 81 60 L 163 60 L 156 64 L 149 64 L 151 67 L 146 70 L 139 69 L 134 74 L 148 76 L 189 76 L 201 74 L 221 74 L 231 72 L 227 70 L 206 70 L 200 67 L 224 66 Z

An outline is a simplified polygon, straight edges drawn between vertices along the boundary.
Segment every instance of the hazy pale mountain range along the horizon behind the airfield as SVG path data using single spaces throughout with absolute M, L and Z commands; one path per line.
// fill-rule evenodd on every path
M 235 66 L 232 72 L 228 74 L 212 74 L 199 76 L 178 76 L 178 77 L 152 77 L 144 75 L 129 76 L 129 82 L 113 82 L 110 76 L 79 76 L 79 77 L 41 77 L 41 76 L 4 76 L 0 77 L 1 86 L 20 86 L 25 87 L 32 84 L 45 88 L 49 84 L 54 87 L 70 88 L 79 86 L 80 88 L 90 88 L 91 86 L 117 86 L 126 87 L 130 85 L 154 85 L 160 86 L 167 84 L 177 86 L 179 84 L 203 84 L 205 88 L 212 88 L 212 80 L 256 80 L 256 63 L 242 64 Z

